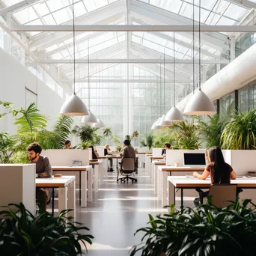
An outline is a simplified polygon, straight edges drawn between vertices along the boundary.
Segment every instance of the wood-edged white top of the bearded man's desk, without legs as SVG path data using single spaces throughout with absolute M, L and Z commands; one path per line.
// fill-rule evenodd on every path
M 36 178 L 37 187 L 64 187 L 69 185 L 73 180 L 76 180 L 76 176 L 62 176 L 62 177 L 50 177 L 50 178 Z

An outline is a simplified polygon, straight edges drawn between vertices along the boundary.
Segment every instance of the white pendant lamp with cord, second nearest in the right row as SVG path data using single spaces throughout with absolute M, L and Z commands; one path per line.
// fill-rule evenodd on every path
M 182 122 L 184 121 L 183 115 L 175 106 L 175 88 L 176 88 L 176 72 L 175 72 L 175 32 L 174 32 L 174 106 L 168 111 L 165 116 L 165 121 Z

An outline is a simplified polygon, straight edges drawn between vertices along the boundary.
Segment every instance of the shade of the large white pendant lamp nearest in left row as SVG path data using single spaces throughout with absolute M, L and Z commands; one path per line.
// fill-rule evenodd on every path
M 89 112 L 85 106 L 85 103 L 83 103 L 83 101 L 76 94 L 73 94 L 63 103 L 60 115 L 81 116 L 89 115 Z

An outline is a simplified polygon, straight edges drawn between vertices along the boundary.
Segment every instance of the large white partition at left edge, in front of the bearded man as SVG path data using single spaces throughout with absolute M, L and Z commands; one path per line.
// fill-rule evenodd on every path
M 0 206 L 22 202 L 26 209 L 35 214 L 35 172 L 34 164 L 0 165 Z

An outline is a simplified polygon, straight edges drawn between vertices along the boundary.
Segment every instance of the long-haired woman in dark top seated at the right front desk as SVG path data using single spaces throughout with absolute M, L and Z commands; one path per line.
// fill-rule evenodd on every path
M 231 165 L 225 162 L 220 147 L 211 147 L 209 150 L 209 155 L 206 151 L 206 156 L 209 158 L 209 164 L 205 168 L 203 174 L 198 174 L 194 171 L 193 176 L 200 180 L 205 180 L 209 175 L 211 179 L 211 184 L 230 184 L 231 180 L 235 180 L 237 175 L 234 172 Z M 209 195 L 209 190 L 203 192 L 201 189 L 196 189 L 199 192 L 201 198 L 206 198 Z M 240 191 L 238 191 L 240 192 Z M 199 206 L 200 198 L 195 198 L 195 207 Z

